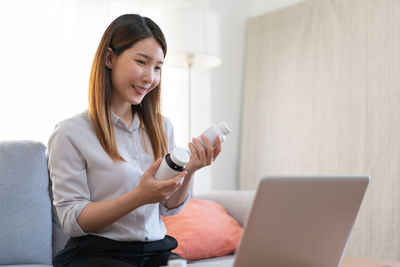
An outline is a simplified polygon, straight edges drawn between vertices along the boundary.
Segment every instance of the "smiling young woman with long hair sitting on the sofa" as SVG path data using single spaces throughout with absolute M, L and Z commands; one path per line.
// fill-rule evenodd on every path
M 193 139 L 186 171 L 154 179 L 175 147 L 171 122 L 160 113 L 166 51 L 149 18 L 123 15 L 106 29 L 88 111 L 60 122 L 48 144 L 54 205 L 71 237 L 54 266 L 160 266 L 176 257 L 177 242 L 165 235 L 160 215 L 183 209 L 193 173 L 211 164 L 221 141 L 214 148 L 202 136 L 203 148 Z

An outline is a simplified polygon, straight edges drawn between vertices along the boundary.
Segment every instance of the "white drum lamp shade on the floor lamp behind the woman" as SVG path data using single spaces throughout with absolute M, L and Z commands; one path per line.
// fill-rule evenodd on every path
M 219 58 L 219 17 L 206 8 L 172 10 L 162 15 L 160 26 L 167 39 L 165 63 L 173 67 L 212 68 Z

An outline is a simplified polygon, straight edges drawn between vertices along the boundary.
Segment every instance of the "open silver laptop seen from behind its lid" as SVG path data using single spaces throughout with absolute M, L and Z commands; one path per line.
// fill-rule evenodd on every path
M 265 177 L 258 185 L 235 257 L 190 266 L 339 266 L 369 179 Z

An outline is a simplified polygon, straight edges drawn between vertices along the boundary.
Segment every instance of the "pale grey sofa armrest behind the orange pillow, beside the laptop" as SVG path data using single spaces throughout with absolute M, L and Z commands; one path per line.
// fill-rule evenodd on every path
M 243 226 L 250 213 L 254 196 L 255 191 L 227 190 L 197 194 L 194 198 L 213 200 L 221 204 L 229 215 Z

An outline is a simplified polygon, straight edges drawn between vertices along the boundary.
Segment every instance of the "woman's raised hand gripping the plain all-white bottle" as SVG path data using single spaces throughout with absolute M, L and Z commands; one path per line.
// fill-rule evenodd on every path
M 189 149 L 192 153 L 190 156 L 190 161 L 186 165 L 186 170 L 189 173 L 194 173 L 195 171 L 211 165 L 211 163 L 217 158 L 218 154 L 221 152 L 221 139 L 219 136 L 215 139 L 215 148 L 211 144 L 210 140 L 204 135 L 200 138 L 203 140 L 206 147 L 197 138 L 193 138 L 192 142 L 189 143 Z

